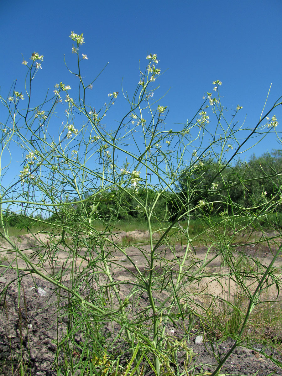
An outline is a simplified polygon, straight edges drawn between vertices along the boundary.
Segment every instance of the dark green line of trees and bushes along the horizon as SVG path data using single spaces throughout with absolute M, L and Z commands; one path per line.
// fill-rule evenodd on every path
M 281 200 L 281 186 L 281 150 L 264 153 L 260 157 L 253 155 L 247 163 L 238 161 L 233 166 L 218 164 L 212 159 L 198 160 L 180 173 L 173 192 L 160 194 L 154 189 L 146 190 L 141 184 L 138 189 L 104 191 L 102 194 L 88 192 L 83 197 L 83 203 L 74 197 L 67 209 L 64 207 L 61 211 L 58 208 L 47 220 L 57 218 L 64 221 L 68 215 L 75 217 L 85 213 L 98 220 L 143 220 L 146 217 L 145 207 L 153 218 L 169 221 L 182 211 L 183 205 L 186 209 L 201 208 L 212 215 L 223 211 L 236 213 L 242 207 L 256 208 L 266 200 Z M 277 206 L 276 211 L 280 208 L 280 205 Z M 36 218 L 43 219 L 38 214 Z M 4 217 L 10 226 L 17 227 L 28 224 L 32 219 L 33 216 L 11 212 Z

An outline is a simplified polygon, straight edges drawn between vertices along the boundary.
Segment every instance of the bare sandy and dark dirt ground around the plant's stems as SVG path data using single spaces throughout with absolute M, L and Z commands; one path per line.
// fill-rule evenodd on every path
M 134 260 L 136 268 L 140 270 L 141 273 L 147 273 L 149 265 L 146 259 L 146 256 L 149 254 L 150 247 L 147 244 L 142 244 L 141 242 L 146 238 L 147 234 L 141 231 L 132 231 L 130 233 L 118 233 L 111 238 L 111 243 L 108 250 L 108 259 L 109 264 L 111 265 L 113 273 L 113 278 L 115 283 L 118 284 L 120 289 L 120 297 L 124 299 L 130 294 L 132 290 L 132 283 L 134 282 L 134 273 L 135 268 L 133 268 L 132 263 L 129 261 L 129 258 Z M 124 240 L 126 239 L 126 244 Z M 121 241 L 123 243 L 121 244 Z M 140 241 L 139 248 L 130 245 Z M 34 254 L 36 249 L 44 250 L 48 249 L 49 244 L 52 242 L 44 234 L 39 234 L 37 236 L 37 241 L 34 238 L 29 237 L 28 235 L 20 235 L 15 239 L 19 250 L 26 255 L 31 257 Z M 124 255 L 121 250 L 125 249 L 127 256 Z M 205 247 L 195 247 L 191 249 L 189 258 L 187 262 L 193 263 L 196 261 L 201 262 L 205 259 L 206 248 Z M 83 254 L 85 250 L 81 248 L 81 253 Z M 196 252 L 195 252 L 196 251 Z M 168 247 L 160 247 L 157 254 L 156 262 L 156 276 L 158 276 L 158 270 L 160 274 L 163 272 L 165 265 L 173 271 L 177 262 L 181 262 L 185 248 L 180 245 L 176 246 L 175 249 L 171 250 Z M 252 246 L 247 246 L 245 248 L 250 256 L 254 258 L 263 259 L 265 264 L 269 264 L 271 261 L 271 252 L 266 247 L 260 247 L 259 250 L 254 249 Z M 212 257 L 213 251 L 211 250 L 210 256 Z M 93 255 L 96 256 L 96 253 L 93 251 Z M 11 250 L 9 244 L 2 242 L 1 244 L 1 259 L 2 265 L 8 265 L 9 262 L 14 260 L 15 252 Z M 34 262 L 38 263 L 39 258 L 35 257 Z M 58 246 L 58 252 L 56 254 L 56 270 L 59 270 L 62 265 L 65 270 L 72 264 L 73 259 L 70 258 L 68 252 Z M 16 260 L 14 260 L 15 265 Z M 17 258 L 18 267 L 20 268 L 21 276 L 21 288 L 20 288 L 20 297 L 18 294 L 18 280 L 17 274 L 12 270 L 6 270 L 4 267 L 0 268 L 0 291 L 2 294 L 2 300 L 0 308 L 0 359 L 3 366 L 0 366 L 0 376 L 2 375 L 12 375 L 17 374 L 20 370 L 19 364 L 26 364 L 26 367 L 29 369 L 31 376 L 33 375 L 56 375 L 55 365 L 53 365 L 53 360 L 57 350 L 56 339 L 58 336 L 58 326 L 54 317 L 58 317 L 58 307 L 56 306 L 55 288 L 54 286 L 46 281 L 43 278 L 36 277 L 35 280 L 32 279 L 30 273 L 27 272 L 27 265 L 21 258 Z M 88 267 L 88 259 L 85 257 L 84 260 L 76 259 L 76 266 L 80 270 Z M 44 273 L 51 272 L 51 266 L 48 266 L 46 261 Z M 281 258 L 276 262 L 277 267 L 281 267 Z M 205 274 L 200 281 L 194 281 L 193 284 L 190 284 L 190 292 L 196 294 L 199 291 L 205 290 L 204 295 L 199 295 L 195 299 L 197 304 L 205 303 L 205 296 L 214 296 L 220 298 L 227 298 L 227 291 L 229 297 L 233 296 L 236 290 L 235 282 L 230 279 L 228 276 L 221 278 L 220 280 L 215 279 L 213 274 L 218 271 L 221 267 L 221 271 L 226 272 L 227 269 L 224 269 L 221 266 L 221 259 L 215 259 L 208 266 L 208 273 Z M 191 271 L 193 268 L 191 269 Z M 27 274 L 27 275 L 25 275 Z M 62 278 L 62 283 L 65 285 L 70 284 L 70 273 L 66 272 Z M 5 289 L 6 285 L 9 284 L 8 289 Z M 36 285 L 35 285 L 36 284 Z M 43 291 L 43 292 L 42 292 Z M 5 293 L 5 294 L 4 294 Z M 165 288 L 157 295 L 155 291 L 155 299 L 162 301 L 170 295 L 170 291 Z M 276 294 L 275 287 L 272 287 L 268 292 L 269 297 L 274 297 Z M 63 296 L 66 294 L 62 293 Z M 4 299 L 5 297 L 5 299 Z M 139 311 L 147 306 L 148 298 L 144 293 L 138 297 L 133 295 L 130 301 L 130 305 L 134 307 L 135 314 L 138 314 Z M 137 299 L 136 302 L 133 300 Z M 113 302 L 114 305 L 117 302 Z M 64 327 L 67 325 L 66 317 L 61 319 L 61 333 L 62 335 L 65 332 Z M 195 345 L 194 340 L 196 335 L 199 333 L 200 327 L 197 325 L 191 328 L 190 332 L 183 336 L 183 329 L 177 327 L 173 323 L 167 324 L 166 335 L 169 338 L 169 341 L 183 341 L 184 337 L 189 347 L 193 349 L 194 356 L 193 361 L 191 362 L 191 367 L 193 364 L 205 364 L 203 366 L 203 371 L 211 372 L 214 370 L 216 365 L 216 360 L 212 355 L 210 342 L 205 342 L 200 345 Z M 116 325 L 105 325 L 105 331 L 107 336 L 110 338 L 114 335 L 114 331 L 118 331 L 118 326 Z M 109 334 L 110 333 L 110 334 Z M 79 334 L 78 334 L 79 335 Z M 204 340 L 206 336 L 204 335 Z M 233 341 L 229 339 L 221 343 L 218 339 L 215 338 L 215 341 L 218 343 L 218 355 L 224 356 L 224 353 L 232 346 Z M 124 344 L 123 344 L 124 345 Z M 257 345 L 256 350 L 262 348 L 261 345 Z M 121 346 L 122 348 L 122 346 Z M 238 347 L 232 356 L 224 364 L 221 372 L 229 374 L 248 374 L 253 375 L 257 374 L 259 376 L 268 375 L 271 372 L 282 375 L 282 369 L 279 368 L 276 364 L 273 363 L 270 359 L 265 358 L 259 351 L 250 350 L 243 347 Z M 281 357 L 276 349 L 267 350 L 268 355 L 273 358 L 277 358 L 281 361 Z M 181 354 L 180 354 L 181 355 Z M 182 354 L 183 355 L 183 354 Z M 184 356 L 184 355 L 183 355 Z M 184 367 L 184 358 L 179 360 L 180 366 L 182 365 L 182 371 Z M 11 368 L 11 365 L 13 368 Z M 180 367 L 181 368 L 181 367 Z M 201 368 L 195 368 L 195 374 L 197 371 L 200 372 Z M 148 371 L 149 372 L 149 371 Z M 257 373 L 256 373 L 257 372 Z M 77 373 L 79 374 L 79 373 Z M 150 373 L 147 373 L 150 374 Z M 208 373 L 207 373 L 208 374 Z M 192 374 L 191 374 L 192 375 Z M 190 376 L 190 375 L 189 375 Z

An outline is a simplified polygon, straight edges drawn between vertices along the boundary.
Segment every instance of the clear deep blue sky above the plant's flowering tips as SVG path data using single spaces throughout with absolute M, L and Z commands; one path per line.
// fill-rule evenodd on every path
M 64 65 L 73 62 L 70 32 L 83 33 L 81 52 L 84 75 L 89 78 L 109 62 L 93 88 L 93 101 L 104 103 L 109 91 L 123 87 L 133 93 L 139 80 L 139 61 L 146 67 L 146 56 L 156 53 L 160 77 L 160 94 L 167 96 L 161 104 L 169 106 L 168 129 L 185 123 L 202 102 L 212 81 L 220 80 L 224 105 L 234 110 L 239 104 L 241 120 L 256 124 L 270 84 L 267 108 L 282 95 L 282 2 L 267 1 L 89 1 L 73 0 L 0 1 L 0 86 L 8 97 L 14 79 L 23 82 L 27 61 L 32 52 L 44 55 L 42 70 L 36 77 L 38 97 L 55 83 L 72 84 Z M 102 98 L 102 99 L 101 99 Z M 92 101 L 92 102 L 93 102 Z M 120 96 L 107 118 L 124 114 L 125 101 Z M 0 110 L 1 113 L 2 110 Z M 232 113 L 232 112 L 231 112 Z M 282 111 L 277 109 L 282 129 Z M 274 135 L 246 152 L 261 155 L 279 149 Z

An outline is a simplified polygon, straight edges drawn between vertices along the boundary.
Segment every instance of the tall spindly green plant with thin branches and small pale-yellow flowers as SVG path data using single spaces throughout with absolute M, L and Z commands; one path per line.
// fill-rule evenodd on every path
M 0 235 L 14 255 L 0 265 L 2 273 L 15 270 L 20 281 L 24 270 L 55 287 L 58 320 L 67 315 L 67 327 L 58 334 L 54 367 L 65 375 L 192 374 L 193 351 L 187 340 L 195 318 L 200 317 L 205 329 L 212 304 L 234 301 L 222 294 L 211 296 L 205 288 L 195 290 L 195 285 L 207 277 L 220 283 L 227 278 L 249 305 L 240 310 L 238 330 L 228 333 L 234 339 L 232 349 L 224 358 L 214 350 L 218 364 L 212 375 L 216 375 L 242 343 L 262 292 L 280 285 L 274 267 L 281 250 L 276 245 L 279 230 L 271 239 L 263 229 L 259 238 L 253 233 L 258 220 L 267 221 L 282 203 L 280 171 L 267 176 L 262 171 L 261 178 L 272 179 L 275 189 L 272 194 L 262 191 L 246 208 L 234 199 L 234 192 L 238 187 L 244 190 L 247 167 L 234 166 L 247 142 L 255 137 L 258 143 L 267 133 L 276 134 L 273 111 L 282 102 L 275 102 L 255 126 L 244 128 L 234 120 L 241 106 L 231 120 L 226 117 L 221 82 L 216 80 L 214 96 L 207 92 L 193 118 L 182 129 L 167 129 L 167 106 L 153 96 L 161 70 L 157 56 L 150 54 L 132 99 L 123 92 L 126 114 L 109 129 L 103 122 L 120 94 L 110 92 L 105 105 L 96 110 L 91 103 L 94 90 L 89 90 L 95 80 L 86 82 L 81 72 L 81 62 L 87 60 L 80 52 L 83 35 L 71 32 L 70 38 L 77 59 L 76 70 L 69 69 L 79 81 L 76 95 L 61 82 L 52 96 L 34 105 L 32 83 L 43 61 L 34 52 L 29 62 L 23 61 L 24 92 L 14 84 L 8 99 L 1 97 L 7 118 L 1 123 Z M 59 114 L 64 114 L 64 121 L 57 133 Z M 23 162 L 14 182 L 7 184 L 5 174 L 14 168 L 15 144 L 23 150 Z M 203 184 L 207 173 L 208 183 Z M 130 241 L 117 240 L 120 215 L 129 200 L 128 209 L 138 212 L 147 226 L 148 241 L 134 244 L 143 265 L 138 264 Z M 161 202 L 165 205 L 160 211 Z M 108 210 L 101 205 L 108 205 Z M 30 255 L 10 235 L 7 218 L 16 211 L 36 214 L 44 229 L 32 233 L 36 246 Z M 191 233 L 192 220 L 201 221 L 202 233 Z M 249 233 L 244 242 L 238 241 L 242 232 Z M 271 241 L 276 250 L 268 265 L 244 252 L 247 244 L 262 242 L 273 252 Z M 199 246 L 206 250 L 203 258 L 197 257 Z M 64 263 L 58 261 L 60 252 L 67 255 Z M 216 259 L 221 268 L 211 273 Z M 243 259 L 253 262 L 253 267 L 242 268 Z M 118 279 L 117 270 L 123 270 L 126 278 Z M 204 302 L 209 299 L 207 307 Z M 182 328 L 181 338 L 168 330 L 172 324 Z M 111 326 L 108 339 L 105 325 Z M 77 333 L 82 341 L 77 341 Z M 209 334 L 207 340 L 213 343 L 215 338 Z M 117 343 L 123 344 L 121 352 Z M 179 351 L 185 354 L 184 364 L 177 358 Z

